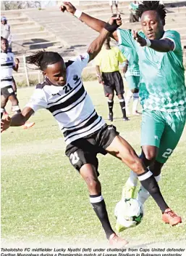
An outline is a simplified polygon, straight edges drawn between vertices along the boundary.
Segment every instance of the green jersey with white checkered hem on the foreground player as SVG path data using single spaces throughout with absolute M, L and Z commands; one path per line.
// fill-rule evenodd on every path
M 174 50 L 157 52 L 140 47 L 130 30 L 117 30 L 119 44 L 134 49 L 140 66 L 140 98 L 144 109 L 151 111 L 182 111 L 186 108 L 186 87 L 180 35 L 165 31 L 162 39 L 174 42 Z M 140 36 L 145 34 L 140 31 Z

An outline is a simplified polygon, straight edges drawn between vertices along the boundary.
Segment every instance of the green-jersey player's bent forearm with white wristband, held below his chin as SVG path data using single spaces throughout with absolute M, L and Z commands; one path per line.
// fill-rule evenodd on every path
M 169 39 L 161 39 L 161 40 L 149 40 L 143 39 L 138 34 L 138 31 L 132 31 L 133 37 L 141 47 L 151 47 L 157 52 L 169 52 L 174 50 L 174 42 Z

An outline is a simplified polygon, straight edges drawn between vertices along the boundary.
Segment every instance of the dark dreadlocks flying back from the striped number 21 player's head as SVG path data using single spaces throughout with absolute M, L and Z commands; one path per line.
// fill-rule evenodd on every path
M 57 52 L 44 52 L 38 51 L 33 55 L 26 57 L 28 64 L 34 64 L 38 70 L 44 71 L 47 68 L 47 65 L 58 63 L 62 60 L 62 57 Z

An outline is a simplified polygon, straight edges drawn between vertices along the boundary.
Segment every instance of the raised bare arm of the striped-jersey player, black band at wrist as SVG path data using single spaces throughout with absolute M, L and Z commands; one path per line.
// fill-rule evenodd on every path
M 106 23 L 106 25 L 104 26 L 104 28 L 102 28 L 101 33 L 99 34 L 99 36 L 93 40 L 93 42 L 90 44 L 90 46 L 88 47 L 88 54 L 89 54 L 89 62 L 90 60 L 93 60 L 96 55 L 98 55 L 98 52 L 101 51 L 101 47 L 103 46 L 104 41 L 106 40 L 106 37 L 109 36 L 109 33 L 113 33 L 114 31 L 117 30 L 117 28 L 119 27 L 119 25 L 117 25 L 117 17 L 111 17 L 109 22 Z

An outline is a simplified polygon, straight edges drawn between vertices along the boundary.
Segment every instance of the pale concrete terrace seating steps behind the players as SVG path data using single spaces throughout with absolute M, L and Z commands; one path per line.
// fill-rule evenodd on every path
M 74 2 L 77 6 L 77 1 Z M 93 17 L 107 21 L 111 16 L 109 1 L 79 1 L 79 4 L 78 9 L 82 9 Z M 182 47 L 184 47 L 186 46 L 186 1 L 164 1 L 164 4 L 168 10 L 165 28 L 178 31 L 181 35 Z M 122 28 L 140 30 L 140 23 L 129 23 L 128 5 L 129 1 L 119 1 Z M 115 11 L 115 7 L 113 9 Z M 96 31 L 80 23 L 72 15 L 60 12 L 59 7 L 2 11 L 2 15 L 7 17 L 11 25 L 12 49 L 14 54 L 20 58 L 20 70 L 14 73 L 17 78 L 25 76 L 22 55 L 29 55 L 30 50 L 56 51 L 64 57 L 64 60 L 69 60 L 85 52 L 90 42 L 98 35 Z M 184 62 L 186 63 L 185 55 Z M 89 71 L 95 72 L 93 63 L 89 64 Z M 38 71 L 33 71 L 33 69 L 29 69 L 28 72 L 31 75 L 38 74 Z

